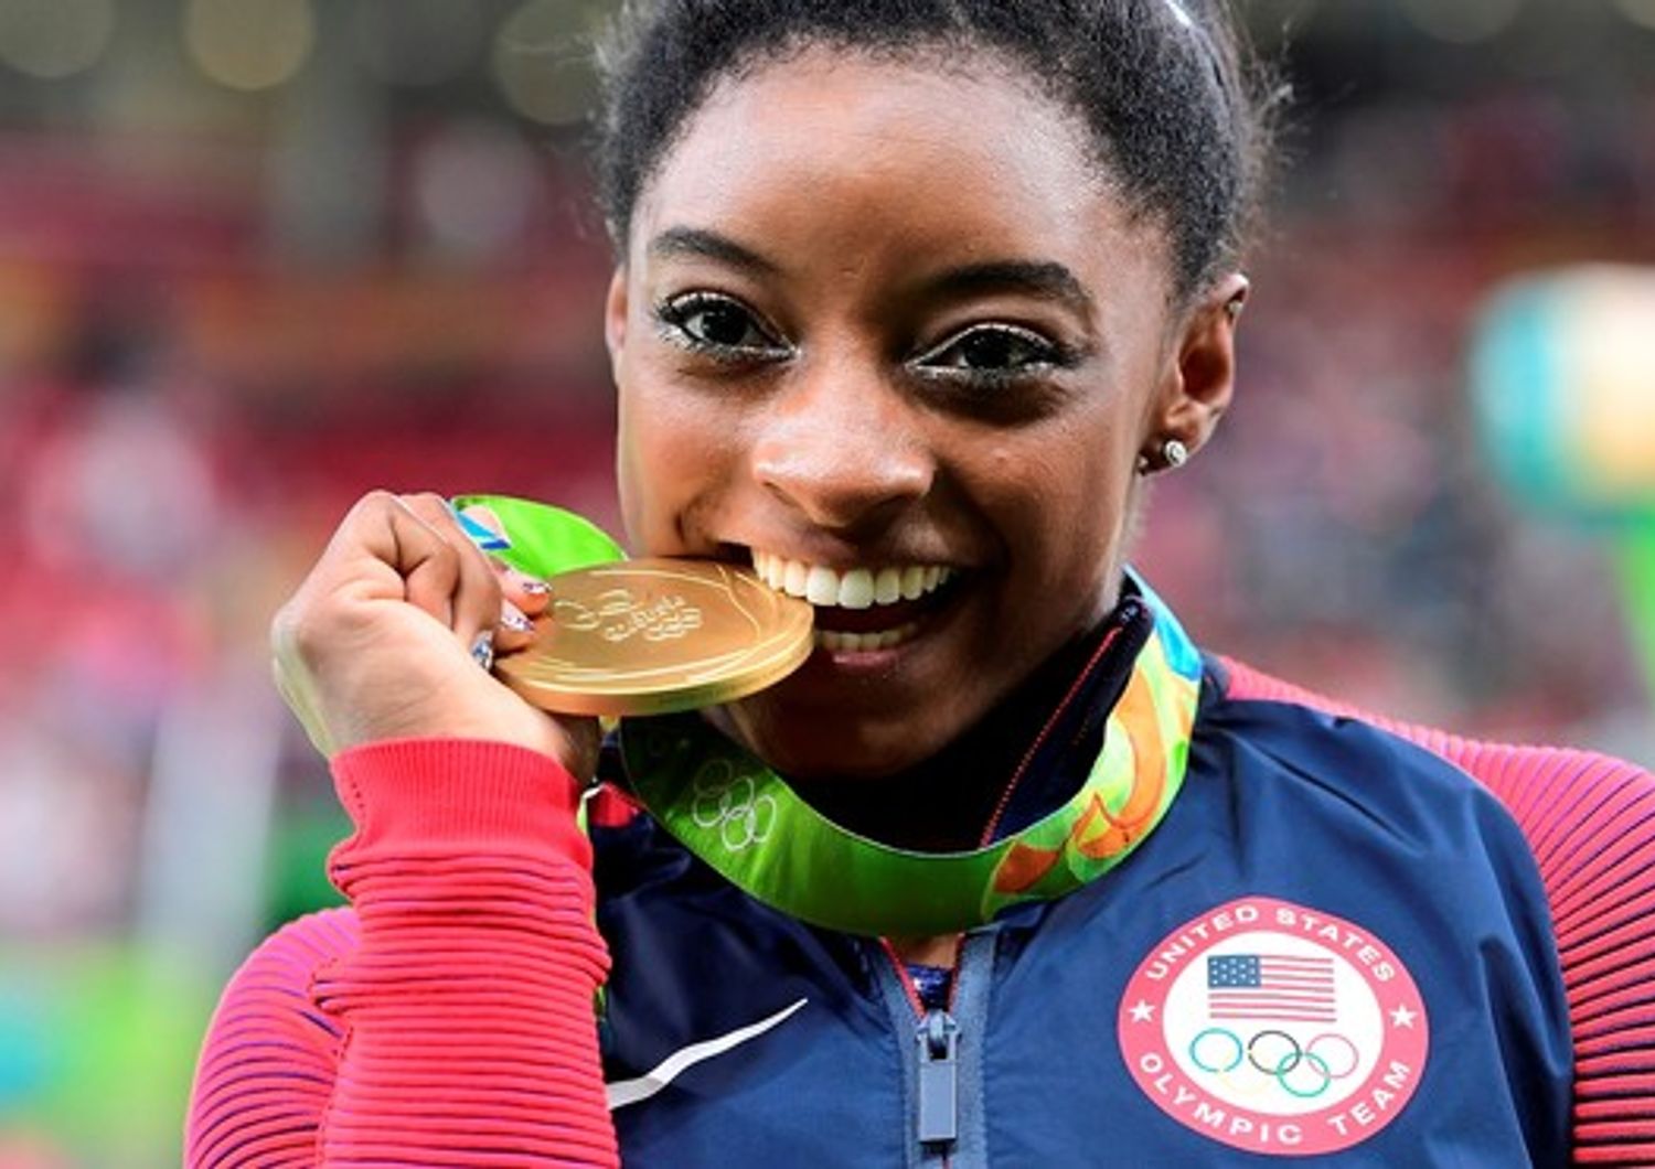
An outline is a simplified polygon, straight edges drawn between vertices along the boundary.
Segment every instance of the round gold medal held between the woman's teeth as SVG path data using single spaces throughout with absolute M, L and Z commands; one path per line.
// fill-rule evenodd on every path
M 495 673 L 561 714 L 669 714 L 775 685 L 811 655 L 813 612 L 750 570 L 642 559 L 554 575 L 535 645 Z

